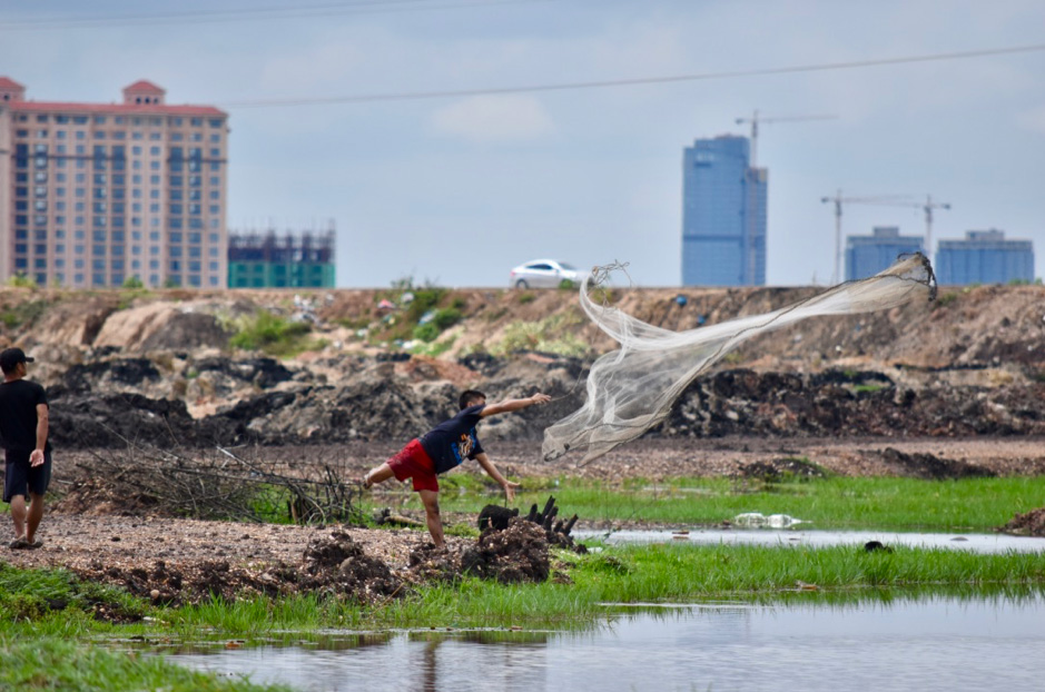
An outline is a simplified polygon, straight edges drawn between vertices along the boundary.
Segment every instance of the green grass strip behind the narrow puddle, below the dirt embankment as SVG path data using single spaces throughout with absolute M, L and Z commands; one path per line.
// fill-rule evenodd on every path
M 440 483 L 445 486 L 440 505 L 447 512 L 474 513 L 487 503 L 503 502 L 500 488 L 482 486 L 475 476 L 452 474 Z M 808 522 L 804 528 L 986 533 L 1016 513 L 1045 504 L 1045 476 L 960 481 L 836 476 L 780 483 L 678 478 L 619 485 L 524 478 L 523 488 L 515 503 L 523 512 L 532 503 L 543 506 L 551 494 L 563 513 L 584 521 L 669 525 L 718 524 L 741 513 L 761 512 Z

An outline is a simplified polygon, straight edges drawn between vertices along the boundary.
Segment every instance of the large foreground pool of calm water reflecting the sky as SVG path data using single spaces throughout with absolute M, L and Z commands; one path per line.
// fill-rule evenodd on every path
M 611 609 L 592 631 L 329 633 L 168 653 L 297 690 L 1042 690 L 1045 596 Z

